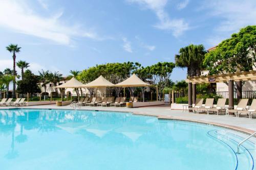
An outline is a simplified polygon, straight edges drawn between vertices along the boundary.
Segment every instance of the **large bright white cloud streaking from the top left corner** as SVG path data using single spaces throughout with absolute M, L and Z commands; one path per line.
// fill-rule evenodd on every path
M 70 45 L 74 37 L 100 39 L 96 33 L 79 26 L 64 25 L 60 22 L 61 16 L 62 12 L 51 17 L 39 16 L 23 1 L 4 0 L 0 6 L 0 27 L 66 45 Z

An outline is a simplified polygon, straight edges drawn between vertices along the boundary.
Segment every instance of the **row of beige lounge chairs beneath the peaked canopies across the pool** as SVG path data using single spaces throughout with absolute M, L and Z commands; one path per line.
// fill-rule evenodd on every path
M 103 107 L 107 107 L 107 106 L 114 106 L 114 107 L 121 107 L 121 106 L 126 106 L 126 102 L 125 102 L 126 98 L 125 97 L 118 97 L 118 98 L 114 98 L 114 97 L 109 97 L 109 98 L 81 98 L 78 101 L 78 106 L 103 106 Z M 138 102 L 138 97 L 131 97 L 129 99 L 129 102 Z

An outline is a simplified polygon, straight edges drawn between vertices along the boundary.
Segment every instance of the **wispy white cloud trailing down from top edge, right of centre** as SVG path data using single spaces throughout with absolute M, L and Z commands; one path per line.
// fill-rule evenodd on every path
M 183 34 L 189 29 L 188 23 L 184 19 L 170 19 L 164 10 L 167 0 L 127 0 L 130 3 L 137 3 L 142 7 L 154 11 L 159 19 L 159 23 L 155 25 L 160 30 L 170 31 L 175 37 Z

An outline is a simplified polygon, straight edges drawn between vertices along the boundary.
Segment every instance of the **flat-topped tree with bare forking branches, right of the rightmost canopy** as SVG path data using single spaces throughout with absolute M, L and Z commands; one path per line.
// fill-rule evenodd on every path
M 175 64 L 172 62 L 158 62 L 157 64 L 154 64 L 147 68 L 150 70 L 149 72 L 151 75 L 151 81 L 155 85 L 158 85 L 161 92 L 168 84 L 170 80 L 170 75 L 172 74 L 174 68 Z M 161 98 L 159 91 L 158 96 L 159 98 Z

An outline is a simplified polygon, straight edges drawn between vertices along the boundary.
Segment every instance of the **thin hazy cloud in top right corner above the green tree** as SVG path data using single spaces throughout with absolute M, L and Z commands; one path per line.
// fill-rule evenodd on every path
M 220 42 L 220 40 L 230 37 L 232 33 L 238 32 L 243 27 L 256 25 L 255 0 L 206 1 L 202 6 L 204 9 L 207 7 L 206 10 L 211 16 L 221 19 L 219 23 L 215 24 L 214 33 L 207 39 L 209 43 L 215 42 L 216 37 Z

